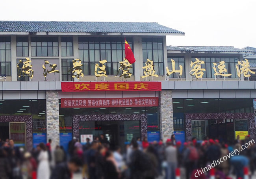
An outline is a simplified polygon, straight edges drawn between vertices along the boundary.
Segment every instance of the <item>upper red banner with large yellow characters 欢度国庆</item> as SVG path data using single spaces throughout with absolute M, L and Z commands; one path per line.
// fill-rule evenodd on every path
M 161 91 L 158 81 L 122 81 L 122 82 L 61 82 L 63 92 L 79 91 Z

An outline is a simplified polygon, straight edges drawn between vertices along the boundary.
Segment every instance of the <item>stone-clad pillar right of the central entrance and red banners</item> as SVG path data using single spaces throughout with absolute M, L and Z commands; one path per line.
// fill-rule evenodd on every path
M 165 142 L 167 138 L 171 138 L 173 130 L 173 98 L 171 90 L 162 90 L 160 92 L 160 129 L 161 138 Z

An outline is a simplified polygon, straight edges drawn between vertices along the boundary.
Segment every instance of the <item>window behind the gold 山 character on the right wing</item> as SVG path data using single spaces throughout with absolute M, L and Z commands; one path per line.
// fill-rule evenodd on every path
M 175 61 L 175 70 L 180 70 L 180 65 L 183 67 L 183 72 L 182 72 L 182 76 L 181 78 L 185 78 L 185 59 L 184 57 L 168 57 L 168 69 L 170 71 L 174 70 L 173 66 L 172 66 L 172 62 L 171 59 L 173 59 Z M 179 78 L 179 73 L 173 73 L 171 75 L 169 75 L 169 78 Z

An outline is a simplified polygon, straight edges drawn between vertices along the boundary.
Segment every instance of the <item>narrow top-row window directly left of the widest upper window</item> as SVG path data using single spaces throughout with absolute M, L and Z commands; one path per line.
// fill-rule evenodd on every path
M 73 39 L 72 37 L 61 37 L 61 56 L 73 56 Z

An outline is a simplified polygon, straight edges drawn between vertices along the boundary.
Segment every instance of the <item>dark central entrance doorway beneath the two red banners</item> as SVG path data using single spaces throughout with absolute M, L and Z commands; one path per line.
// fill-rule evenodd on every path
M 141 137 L 139 120 L 116 120 L 116 121 L 80 121 L 79 136 L 93 135 L 93 138 L 103 134 L 108 140 L 111 149 L 116 146 L 125 148 L 125 144 L 130 143 L 132 138 Z M 83 142 L 83 141 L 81 141 Z

